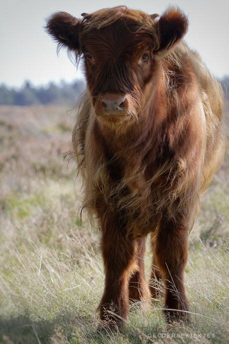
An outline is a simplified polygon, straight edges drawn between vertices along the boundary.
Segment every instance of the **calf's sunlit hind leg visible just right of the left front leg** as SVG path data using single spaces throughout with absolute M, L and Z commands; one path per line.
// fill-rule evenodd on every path
M 137 240 L 137 254 L 136 261 L 138 270 L 131 276 L 129 280 L 129 299 L 130 300 L 146 300 L 150 298 L 149 287 L 145 280 L 144 272 L 144 254 L 145 254 L 145 239 Z

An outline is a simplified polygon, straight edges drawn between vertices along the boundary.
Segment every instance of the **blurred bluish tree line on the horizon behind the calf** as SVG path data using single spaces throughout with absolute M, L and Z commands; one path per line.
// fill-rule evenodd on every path
M 229 76 L 219 80 L 222 84 L 225 98 L 229 100 Z M 62 81 L 60 84 L 50 82 L 47 86 L 34 87 L 29 81 L 19 90 L 0 86 L 0 105 L 73 105 L 85 87 L 83 80 L 72 83 Z

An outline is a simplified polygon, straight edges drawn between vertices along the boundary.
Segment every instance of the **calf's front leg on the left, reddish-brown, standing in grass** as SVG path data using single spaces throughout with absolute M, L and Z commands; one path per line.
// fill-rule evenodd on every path
M 98 307 L 101 327 L 121 328 L 129 310 L 128 282 L 137 269 L 136 241 L 111 217 L 102 229 L 101 248 L 105 266 L 105 289 Z

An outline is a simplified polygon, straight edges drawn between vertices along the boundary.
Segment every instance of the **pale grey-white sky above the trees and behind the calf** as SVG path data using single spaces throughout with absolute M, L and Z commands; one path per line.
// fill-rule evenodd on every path
M 228 0 L 0 0 L 0 84 L 21 87 L 83 78 L 64 49 L 45 33 L 45 19 L 57 11 L 81 17 L 104 7 L 127 5 L 148 14 L 161 14 L 169 4 L 178 5 L 189 18 L 185 36 L 216 77 L 229 76 Z

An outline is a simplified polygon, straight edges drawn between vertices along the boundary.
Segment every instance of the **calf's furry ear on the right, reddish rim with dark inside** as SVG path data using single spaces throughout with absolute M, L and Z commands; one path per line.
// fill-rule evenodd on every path
M 161 58 L 187 33 L 188 18 L 179 8 L 169 7 L 156 22 L 155 28 L 160 43 L 154 53 Z

